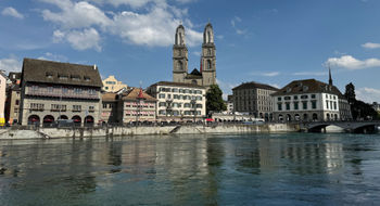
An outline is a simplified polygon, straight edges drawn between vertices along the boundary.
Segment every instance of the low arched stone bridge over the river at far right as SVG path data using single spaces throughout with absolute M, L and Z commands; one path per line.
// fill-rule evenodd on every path
M 345 131 L 357 133 L 375 132 L 380 127 L 380 120 L 357 120 L 357 121 L 308 121 L 301 123 L 301 128 L 311 132 L 326 131 L 327 126 L 337 126 Z

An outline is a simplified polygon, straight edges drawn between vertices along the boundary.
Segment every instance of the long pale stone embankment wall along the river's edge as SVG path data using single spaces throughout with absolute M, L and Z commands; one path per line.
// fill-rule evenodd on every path
M 1 130 L 0 139 L 30 138 L 89 138 L 110 136 L 190 134 L 190 133 L 258 133 L 291 132 L 300 127 L 288 124 L 169 126 L 169 127 L 110 127 L 110 128 L 39 128 L 38 130 Z

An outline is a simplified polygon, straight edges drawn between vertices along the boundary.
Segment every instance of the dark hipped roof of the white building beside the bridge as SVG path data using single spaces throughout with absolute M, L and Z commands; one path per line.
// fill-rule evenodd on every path
M 343 94 L 339 91 L 335 86 L 318 81 L 316 79 L 303 79 L 294 80 L 283 88 L 281 88 L 273 95 L 290 95 L 290 94 L 302 94 L 302 93 L 333 93 L 343 98 Z

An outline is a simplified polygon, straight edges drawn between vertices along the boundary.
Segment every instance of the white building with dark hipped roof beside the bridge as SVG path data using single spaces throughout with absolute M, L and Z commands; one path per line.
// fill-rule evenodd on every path
M 275 120 L 339 120 L 339 93 L 332 83 L 294 80 L 273 94 Z

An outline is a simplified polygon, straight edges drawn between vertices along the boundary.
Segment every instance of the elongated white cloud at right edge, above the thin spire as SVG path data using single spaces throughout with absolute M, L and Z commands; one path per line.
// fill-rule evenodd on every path
M 364 69 L 370 67 L 380 67 L 379 59 L 367 59 L 367 60 L 357 60 L 352 55 L 342 55 L 341 57 L 330 57 L 325 63 L 331 67 L 341 67 L 346 69 Z

